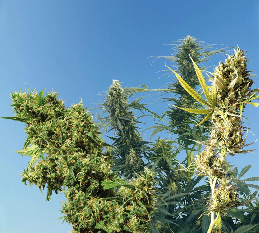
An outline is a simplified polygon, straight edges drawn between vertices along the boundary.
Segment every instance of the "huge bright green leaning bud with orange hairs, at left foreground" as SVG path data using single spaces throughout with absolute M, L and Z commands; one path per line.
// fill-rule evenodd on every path
M 105 143 L 82 101 L 65 108 L 57 93 L 42 94 L 11 94 L 16 112 L 11 119 L 25 122 L 28 135 L 19 153 L 37 147 L 32 157 L 35 151 L 47 154 L 22 173 L 23 182 L 40 189 L 47 185 L 47 200 L 52 190 L 64 192 L 61 212 L 74 233 L 144 232 L 155 211 L 155 175 L 145 168 L 133 182 L 119 178 L 110 170 L 111 156 L 103 152 Z

